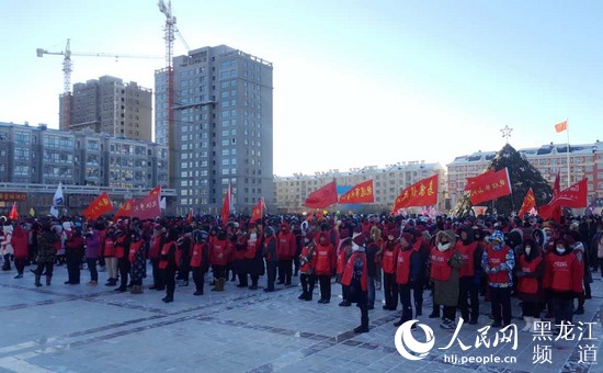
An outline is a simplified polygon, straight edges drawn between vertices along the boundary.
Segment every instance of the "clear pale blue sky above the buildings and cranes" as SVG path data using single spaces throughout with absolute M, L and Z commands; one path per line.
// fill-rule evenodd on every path
M 153 0 L 0 0 L 0 122 L 58 127 L 60 56 L 164 54 Z M 504 145 L 603 140 L 603 2 L 174 0 L 191 48 L 274 64 L 274 172 L 453 161 Z M 175 54 L 185 54 L 179 39 Z M 153 89 L 163 59 L 73 58 L 71 82 Z

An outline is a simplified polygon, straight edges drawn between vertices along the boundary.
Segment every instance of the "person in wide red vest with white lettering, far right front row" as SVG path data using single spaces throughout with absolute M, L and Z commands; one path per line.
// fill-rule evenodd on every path
M 555 304 L 555 324 L 573 319 L 573 298 L 582 292 L 582 264 L 568 242 L 558 238 L 546 256 L 543 287 Z

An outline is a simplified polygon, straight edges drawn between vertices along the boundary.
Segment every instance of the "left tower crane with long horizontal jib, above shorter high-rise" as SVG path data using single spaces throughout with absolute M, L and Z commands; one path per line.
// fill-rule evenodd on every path
M 112 57 L 115 59 L 118 58 L 162 58 L 160 56 L 146 56 L 146 55 L 125 55 L 125 54 L 111 54 L 111 53 L 73 53 L 71 52 L 71 41 L 67 39 L 67 45 L 65 50 L 60 52 L 48 52 L 43 48 L 37 48 L 37 57 L 44 57 L 44 55 L 59 55 L 64 56 L 62 58 L 62 106 L 61 111 L 61 123 L 62 127 L 69 128 L 70 126 L 70 109 L 71 109 L 71 71 L 73 71 L 73 65 L 71 63 L 71 56 L 84 56 L 84 57 Z

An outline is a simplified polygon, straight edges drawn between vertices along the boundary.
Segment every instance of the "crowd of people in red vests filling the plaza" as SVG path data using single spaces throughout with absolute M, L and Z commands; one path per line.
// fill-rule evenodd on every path
M 490 303 L 491 327 L 510 325 L 514 296 L 523 330 L 531 331 L 542 317 L 561 325 L 584 313 L 591 271 L 600 269 L 603 276 L 603 221 L 385 214 L 266 215 L 253 223 L 248 216 L 224 223 L 214 216 L 115 223 L 24 218 L 3 223 L 0 249 L 2 270 L 14 265 L 14 279 L 22 279 L 31 264 L 35 286 L 43 286 L 43 278 L 52 284 L 55 265 L 67 267 L 65 284 L 80 284 L 86 265 L 90 286 L 99 284 L 102 271 L 106 286 L 140 294 L 148 279 L 149 290 L 164 291 L 166 303 L 174 301 L 177 285 L 190 282 L 193 294 L 203 295 L 208 273 L 214 292 L 224 292 L 229 282 L 257 291 L 261 276 L 263 291 L 273 292 L 298 276 L 298 298 L 306 302 L 318 282 L 321 305 L 331 302 L 333 285 L 341 286 L 339 306 L 356 304 L 361 310 L 355 332 L 368 331 L 377 291 L 384 309 L 401 307 L 399 326 L 423 315 L 423 294 L 431 290 L 429 317 L 442 318 L 444 329 L 456 328 L 457 312 L 464 321 L 480 323 L 480 303 Z

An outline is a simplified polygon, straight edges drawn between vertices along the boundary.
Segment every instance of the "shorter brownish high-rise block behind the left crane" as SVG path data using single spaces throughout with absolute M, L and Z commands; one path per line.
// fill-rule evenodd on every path
M 68 101 L 61 95 L 59 102 L 60 129 L 92 129 L 144 142 L 152 138 L 152 91 L 134 81 L 124 83 L 120 78 L 104 76 L 76 83 Z M 66 121 L 62 112 L 68 109 Z

